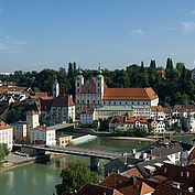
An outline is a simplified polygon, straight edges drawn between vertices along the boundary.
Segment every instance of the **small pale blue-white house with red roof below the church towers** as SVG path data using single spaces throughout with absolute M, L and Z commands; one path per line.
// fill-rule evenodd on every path
M 95 120 L 94 109 L 84 108 L 80 113 L 80 123 L 83 124 L 93 123 L 94 120 Z

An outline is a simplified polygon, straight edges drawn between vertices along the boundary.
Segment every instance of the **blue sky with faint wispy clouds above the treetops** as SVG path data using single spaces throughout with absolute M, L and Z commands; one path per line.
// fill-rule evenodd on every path
M 195 67 L 194 0 L 0 0 L 0 72 Z

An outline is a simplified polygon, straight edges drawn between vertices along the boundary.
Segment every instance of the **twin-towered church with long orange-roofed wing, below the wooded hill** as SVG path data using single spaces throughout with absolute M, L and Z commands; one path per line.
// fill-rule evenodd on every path
M 159 97 L 151 88 L 108 88 L 99 67 L 96 77 L 84 80 L 80 69 L 75 80 L 76 115 L 83 108 L 101 106 L 151 107 L 159 105 Z

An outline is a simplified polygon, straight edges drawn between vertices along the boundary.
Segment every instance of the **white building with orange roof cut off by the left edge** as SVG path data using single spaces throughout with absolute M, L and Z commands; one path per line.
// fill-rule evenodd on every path
M 9 150 L 13 147 L 13 128 L 6 122 L 0 122 L 0 143 L 6 143 Z

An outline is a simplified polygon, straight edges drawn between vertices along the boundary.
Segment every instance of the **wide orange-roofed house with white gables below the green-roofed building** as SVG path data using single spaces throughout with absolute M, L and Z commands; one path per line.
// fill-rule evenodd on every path
M 145 117 L 117 117 L 109 121 L 109 131 L 127 131 L 130 128 L 143 128 L 148 130 L 148 120 Z

